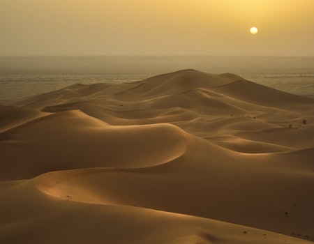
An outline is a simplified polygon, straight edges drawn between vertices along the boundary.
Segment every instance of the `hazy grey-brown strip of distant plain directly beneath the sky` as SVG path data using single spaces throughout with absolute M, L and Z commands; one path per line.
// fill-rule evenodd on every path
M 197 69 L 208 73 L 313 73 L 313 56 L 0 56 L 5 73 L 168 73 Z

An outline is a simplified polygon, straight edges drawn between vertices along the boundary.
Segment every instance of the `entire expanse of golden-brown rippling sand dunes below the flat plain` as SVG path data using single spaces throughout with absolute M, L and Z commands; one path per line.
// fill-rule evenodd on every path
M 313 98 L 180 70 L 0 118 L 0 243 L 314 241 Z

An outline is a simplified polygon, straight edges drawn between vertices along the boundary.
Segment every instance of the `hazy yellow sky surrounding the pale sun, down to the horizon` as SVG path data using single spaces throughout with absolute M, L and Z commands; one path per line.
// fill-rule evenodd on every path
M 313 13 L 314 0 L 0 0 L 0 55 L 313 56 Z

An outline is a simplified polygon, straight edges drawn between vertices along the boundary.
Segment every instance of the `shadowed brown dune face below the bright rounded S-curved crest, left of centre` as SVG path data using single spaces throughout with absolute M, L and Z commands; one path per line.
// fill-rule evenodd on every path
M 151 167 L 186 149 L 185 132 L 169 123 L 110 126 L 77 110 L 31 121 L 2 137 L 1 178 L 7 179 L 80 167 Z

